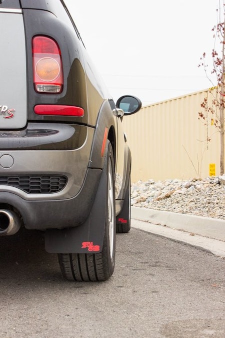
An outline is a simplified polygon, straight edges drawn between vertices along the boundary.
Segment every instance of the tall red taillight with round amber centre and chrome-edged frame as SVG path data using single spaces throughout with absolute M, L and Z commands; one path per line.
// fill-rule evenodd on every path
M 60 93 L 63 86 L 61 52 L 47 37 L 32 39 L 33 84 L 38 93 Z

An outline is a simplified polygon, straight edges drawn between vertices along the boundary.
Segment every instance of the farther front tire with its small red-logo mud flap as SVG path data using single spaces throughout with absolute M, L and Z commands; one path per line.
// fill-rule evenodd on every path
M 122 210 L 116 217 L 116 232 L 126 233 L 130 230 L 130 173 L 128 178 L 128 184 L 125 191 L 125 197 L 123 201 Z

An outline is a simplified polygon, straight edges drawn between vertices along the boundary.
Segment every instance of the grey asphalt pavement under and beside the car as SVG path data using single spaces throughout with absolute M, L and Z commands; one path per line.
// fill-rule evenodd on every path
M 111 278 L 69 282 L 20 228 L 0 236 L 0 338 L 224 338 L 224 275 L 225 259 L 131 228 Z

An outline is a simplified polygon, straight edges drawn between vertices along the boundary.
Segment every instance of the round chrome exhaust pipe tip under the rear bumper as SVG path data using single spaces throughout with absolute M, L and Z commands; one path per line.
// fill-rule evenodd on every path
M 14 235 L 20 225 L 21 220 L 14 211 L 0 209 L 0 236 Z

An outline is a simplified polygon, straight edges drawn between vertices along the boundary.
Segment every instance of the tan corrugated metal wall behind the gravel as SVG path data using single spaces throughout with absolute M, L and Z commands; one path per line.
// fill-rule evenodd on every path
M 210 163 L 215 163 L 219 175 L 219 132 L 211 126 L 210 116 L 198 120 L 206 95 L 211 96 L 202 91 L 159 102 L 123 118 L 132 153 L 132 182 L 204 178 Z

